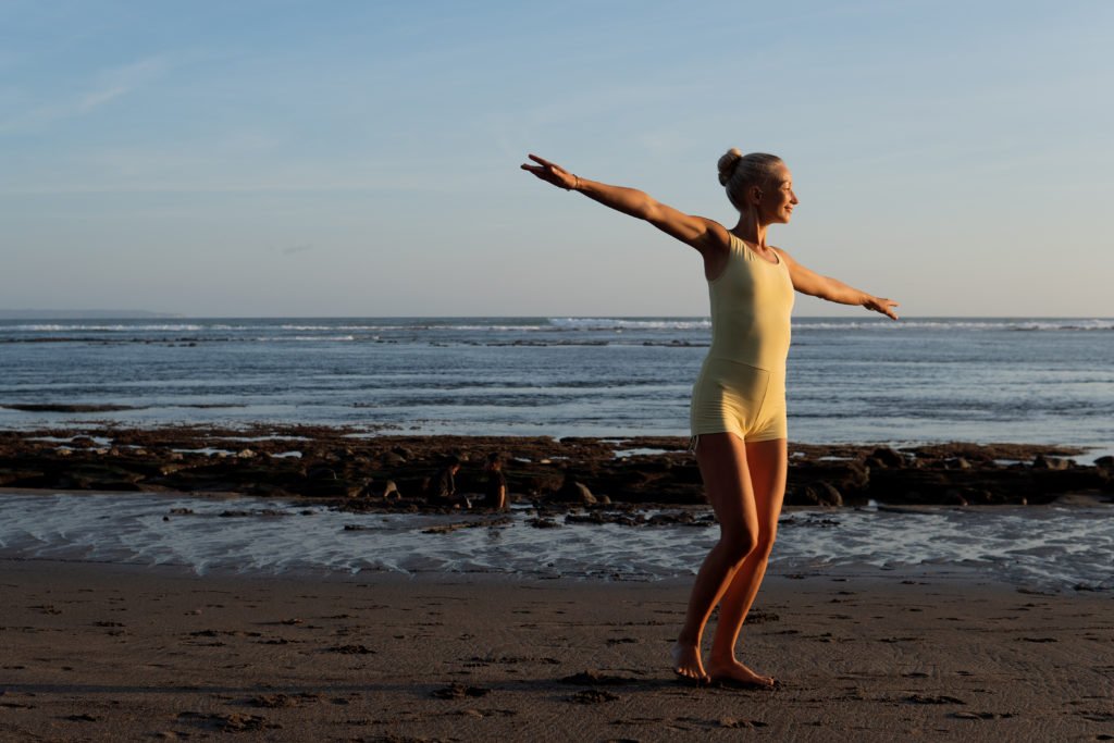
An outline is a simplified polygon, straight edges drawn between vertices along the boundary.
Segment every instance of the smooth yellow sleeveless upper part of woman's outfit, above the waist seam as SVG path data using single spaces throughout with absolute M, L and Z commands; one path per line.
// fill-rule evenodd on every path
M 770 263 L 746 243 L 731 237 L 723 273 L 707 283 L 712 307 L 712 346 L 707 359 L 723 359 L 785 373 L 793 282 L 779 255 Z

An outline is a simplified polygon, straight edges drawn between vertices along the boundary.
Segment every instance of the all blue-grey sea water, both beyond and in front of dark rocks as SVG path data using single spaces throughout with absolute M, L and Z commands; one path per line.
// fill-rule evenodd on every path
M 0 322 L 0 428 L 310 423 L 395 434 L 686 436 L 701 317 Z M 97 410 L 72 412 L 74 405 Z M 28 409 L 30 407 L 30 409 Z M 1114 453 L 1114 320 L 800 317 L 790 439 L 965 440 Z M 692 575 L 715 527 L 343 514 L 175 493 L 0 493 L 0 557 L 204 574 Z M 771 574 L 925 570 L 1114 589 L 1110 506 L 786 515 Z M 229 509 L 234 512 L 229 512 Z M 355 528 L 345 528 L 355 527 Z

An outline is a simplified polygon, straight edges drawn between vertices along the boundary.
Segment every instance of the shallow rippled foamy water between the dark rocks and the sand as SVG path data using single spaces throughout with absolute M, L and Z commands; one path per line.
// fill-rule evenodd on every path
M 301 502 L 157 493 L 0 499 L 0 556 L 168 563 L 198 574 L 375 569 L 658 579 L 692 575 L 719 531 L 613 524 L 539 530 L 518 510 L 507 526 L 422 534 L 488 517 L 345 514 Z M 251 515 L 221 516 L 225 511 Z M 1114 589 L 1112 550 L 1114 519 L 1102 507 L 799 511 L 783 519 L 772 571 L 975 566 L 1014 585 Z

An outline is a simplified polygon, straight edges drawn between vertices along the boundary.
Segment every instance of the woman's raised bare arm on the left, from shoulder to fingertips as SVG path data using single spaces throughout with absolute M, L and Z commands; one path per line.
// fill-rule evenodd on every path
M 717 222 L 678 212 L 636 188 L 609 186 L 606 183 L 580 178 L 556 163 L 550 163 L 537 155 L 529 157 L 537 165 L 524 164 L 524 170 L 532 173 L 558 188 L 578 190 L 588 198 L 616 212 L 645 219 L 665 234 L 692 245 L 701 253 L 710 247 L 725 248 L 729 245 L 727 231 Z

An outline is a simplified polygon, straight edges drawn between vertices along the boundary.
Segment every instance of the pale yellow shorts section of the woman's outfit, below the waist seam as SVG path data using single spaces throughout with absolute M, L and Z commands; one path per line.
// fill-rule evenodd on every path
M 704 433 L 734 433 L 743 441 L 789 438 L 785 374 L 729 359 L 706 359 L 693 385 L 692 440 Z

